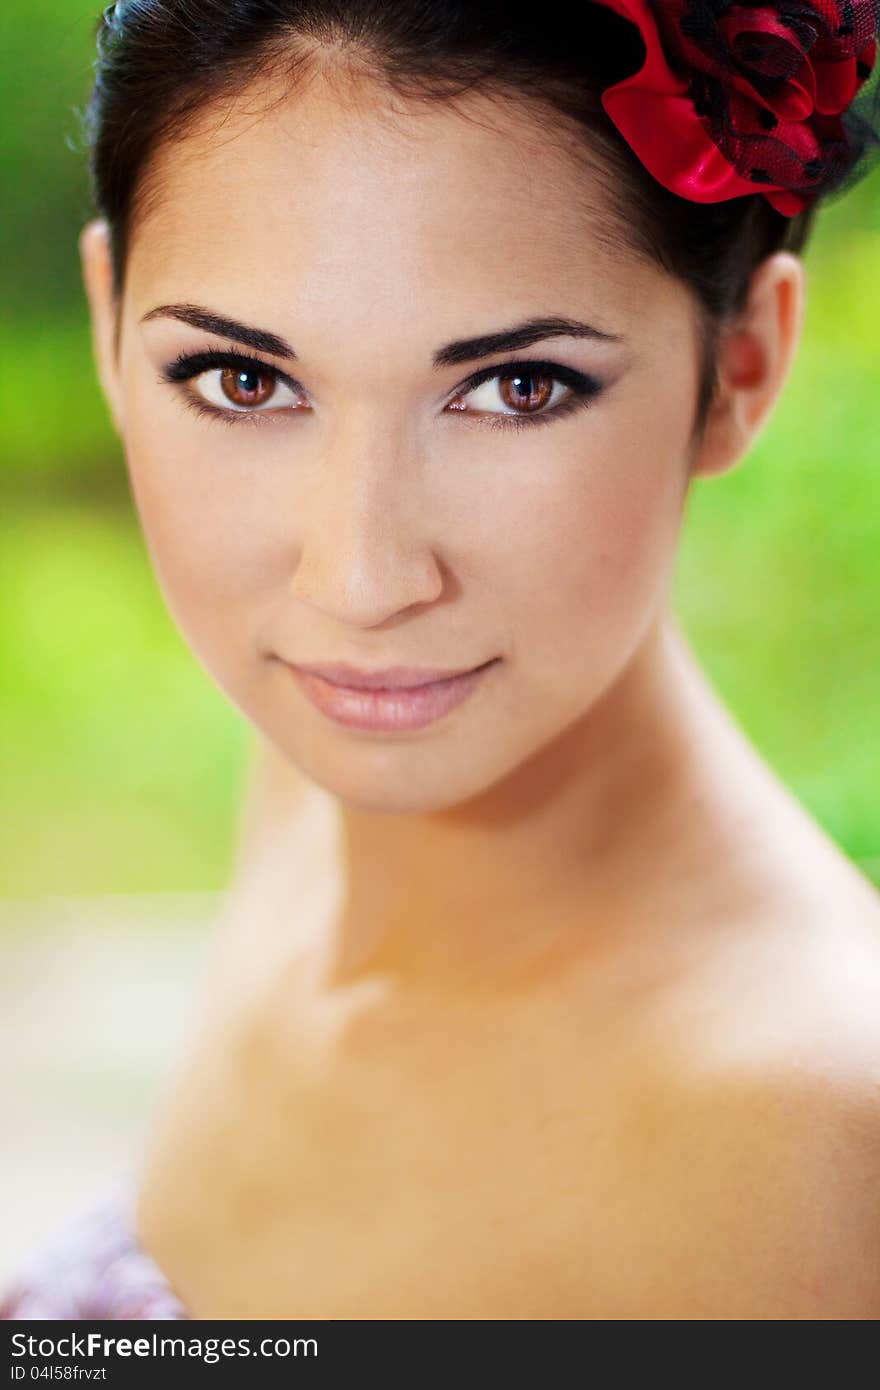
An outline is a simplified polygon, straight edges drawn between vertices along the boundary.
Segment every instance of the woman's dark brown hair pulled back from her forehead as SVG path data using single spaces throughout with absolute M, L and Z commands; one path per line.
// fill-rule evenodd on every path
M 617 245 L 692 293 L 702 353 L 695 436 L 717 386 L 720 329 L 742 309 L 766 256 L 802 252 L 816 207 L 784 217 L 760 193 L 701 204 L 656 182 L 599 100 L 644 58 L 635 26 L 602 4 L 563 18 L 513 0 L 124 0 L 103 11 L 97 51 L 85 128 L 117 299 L 132 229 L 158 192 L 152 157 L 261 74 L 295 85 L 329 56 L 331 68 L 375 78 L 406 99 L 480 92 L 531 103 L 548 129 L 553 118 L 574 122 L 602 174 Z

